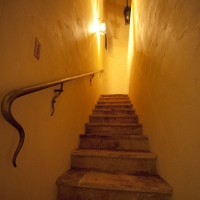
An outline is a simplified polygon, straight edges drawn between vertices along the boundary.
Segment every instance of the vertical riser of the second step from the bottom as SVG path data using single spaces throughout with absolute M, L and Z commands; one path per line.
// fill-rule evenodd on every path
M 156 174 L 156 159 L 111 156 L 71 156 L 73 169 L 90 169 L 107 172 Z

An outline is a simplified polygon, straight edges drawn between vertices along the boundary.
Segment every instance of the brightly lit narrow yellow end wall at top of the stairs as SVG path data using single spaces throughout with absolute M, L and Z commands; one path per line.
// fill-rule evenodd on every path
M 130 1 L 129 1 L 130 5 Z M 106 68 L 104 73 L 105 93 L 128 93 L 127 79 L 127 52 L 129 26 L 125 26 L 125 1 L 104 0 L 103 19 L 107 25 L 108 50 L 103 48 L 102 65 Z

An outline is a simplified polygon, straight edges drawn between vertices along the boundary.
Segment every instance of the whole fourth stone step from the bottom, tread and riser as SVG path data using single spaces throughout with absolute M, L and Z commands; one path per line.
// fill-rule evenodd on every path
M 87 123 L 85 124 L 85 133 L 97 135 L 142 135 L 142 125 L 136 123 Z

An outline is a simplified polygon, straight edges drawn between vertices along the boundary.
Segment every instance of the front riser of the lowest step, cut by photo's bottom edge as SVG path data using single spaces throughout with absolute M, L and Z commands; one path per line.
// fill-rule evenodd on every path
M 169 200 L 167 194 L 150 194 L 61 185 L 57 200 Z

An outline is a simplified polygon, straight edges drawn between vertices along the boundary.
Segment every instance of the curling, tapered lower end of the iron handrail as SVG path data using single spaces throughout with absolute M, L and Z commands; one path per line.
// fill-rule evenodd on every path
M 11 112 L 12 103 L 17 97 L 18 97 L 18 94 L 16 92 L 12 91 L 3 98 L 2 103 L 1 103 L 1 111 L 2 111 L 4 118 L 6 119 L 6 121 L 9 124 L 14 126 L 19 132 L 19 143 L 18 143 L 18 146 L 15 150 L 15 153 L 14 153 L 13 159 L 12 159 L 12 163 L 13 163 L 14 167 L 17 167 L 16 159 L 17 159 L 17 156 L 23 146 L 24 139 L 25 139 L 24 129 L 15 120 L 15 118 L 13 117 L 12 112 Z

